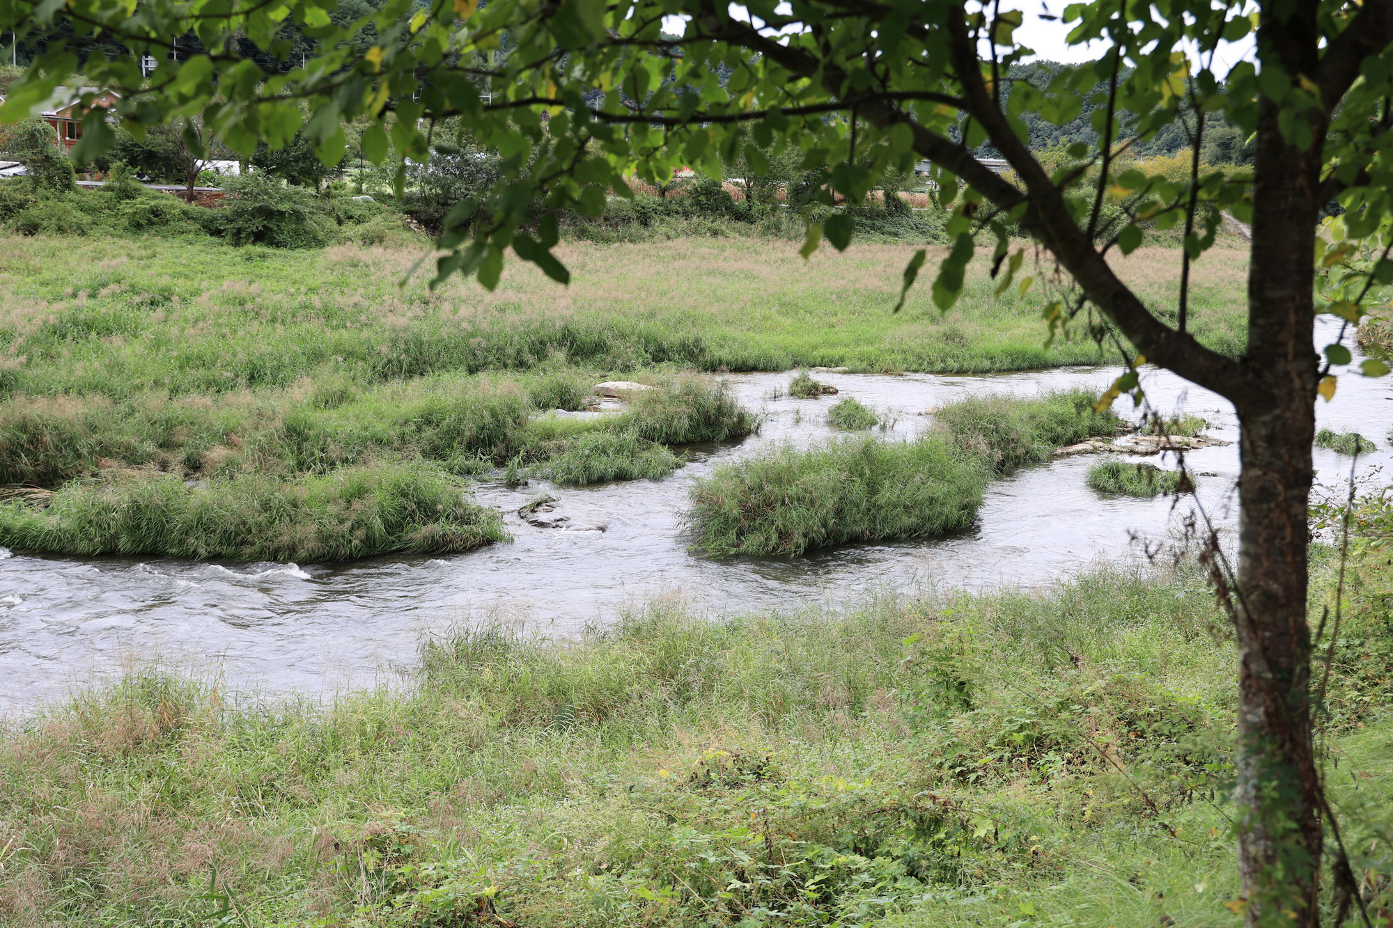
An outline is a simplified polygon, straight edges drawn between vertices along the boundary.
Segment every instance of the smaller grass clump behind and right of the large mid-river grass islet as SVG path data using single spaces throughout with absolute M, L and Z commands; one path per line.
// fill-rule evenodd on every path
M 1003 470 L 1048 461 L 1056 447 L 1087 438 L 1117 435 L 1123 421 L 1112 410 L 1095 411 L 1096 399 L 1088 390 L 972 397 L 944 405 L 933 418 L 954 443 Z

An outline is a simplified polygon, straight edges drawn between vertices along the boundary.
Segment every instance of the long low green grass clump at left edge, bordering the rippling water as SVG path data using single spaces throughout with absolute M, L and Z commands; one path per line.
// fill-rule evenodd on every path
M 507 541 L 467 485 L 415 463 L 294 482 L 244 474 L 189 486 L 169 474 L 74 481 L 46 504 L 0 506 L 0 545 L 70 555 L 347 560 Z

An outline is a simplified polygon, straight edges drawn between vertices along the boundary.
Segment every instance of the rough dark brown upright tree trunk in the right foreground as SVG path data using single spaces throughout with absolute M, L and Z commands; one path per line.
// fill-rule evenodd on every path
M 1238 869 L 1248 924 L 1315 925 L 1322 822 L 1311 733 L 1307 504 L 1318 358 L 1312 244 L 1319 142 L 1283 139 L 1263 102 L 1255 164 L 1238 591 Z M 1323 135 L 1323 125 L 1315 138 Z

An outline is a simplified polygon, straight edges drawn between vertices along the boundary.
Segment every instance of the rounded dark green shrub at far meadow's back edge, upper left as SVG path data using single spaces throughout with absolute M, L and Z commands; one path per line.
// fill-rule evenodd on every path
M 265 174 L 230 177 L 224 190 L 216 224 L 234 245 L 318 248 L 329 241 L 325 210 L 306 190 Z

